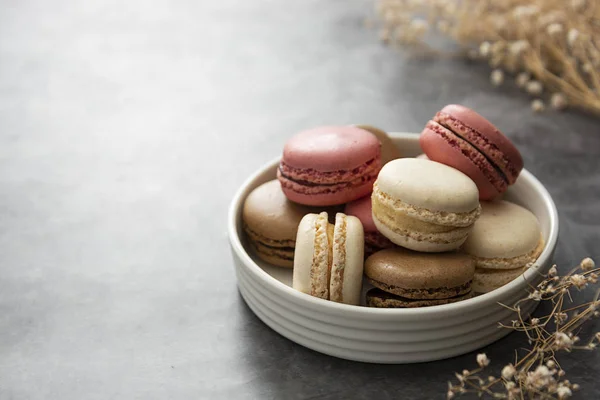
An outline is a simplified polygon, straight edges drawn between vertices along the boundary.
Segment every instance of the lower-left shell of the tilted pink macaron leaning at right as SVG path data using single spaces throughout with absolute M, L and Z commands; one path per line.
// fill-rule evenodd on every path
M 479 189 L 480 199 L 492 200 L 506 191 L 506 181 L 489 161 L 467 141 L 438 123 L 427 123 L 419 144 L 430 160 L 456 168 L 471 178 Z

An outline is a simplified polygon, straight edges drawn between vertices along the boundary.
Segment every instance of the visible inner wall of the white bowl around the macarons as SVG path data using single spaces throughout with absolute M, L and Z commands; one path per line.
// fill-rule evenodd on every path
M 402 151 L 402 155 L 404 157 L 415 157 L 422 153 L 421 148 L 419 147 L 418 135 L 413 133 L 391 133 L 390 134 L 394 143 L 400 148 Z M 241 218 L 241 209 L 243 205 L 243 201 L 246 196 L 259 185 L 270 181 L 276 178 L 277 166 L 279 163 L 279 158 L 273 160 L 267 167 L 263 170 L 259 171 L 256 175 L 247 181 L 245 187 L 242 188 L 241 193 L 239 194 L 239 203 L 237 210 L 232 209 L 232 213 L 234 213 L 236 218 L 236 230 L 235 234 L 239 238 L 244 250 L 250 256 L 252 261 L 266 274 L 268 274 L 273 279 L 287 285 L 291 286 L 292 284 L 292 269 L 291 268 L 281 268 L 270 265 L 264 261 L 262 261 L 258 256 L 256 256 L 254 250 L 249 245 L 246 240 L 246 235 L 244 235 L 242 230 L 242 218 Z M 539 220 L 540 227 L 542 230 L 542 236 L 545 241 L 545 248 L 542 254 L 540 255 L 541 259 L 549 259 L 552 255 L 554 247 L 556 245 L 556 239 L 558 235 L 558 216 L 556 214 L 556 208 L 550 198 L 550 195 L 546 191 L 546 189 L 541 185 L 533 175 L 531 175 L 526 170 L 523 170 L 517 182 L 512 185 L 508 191 L 503 195 L 503 199 L 509 200 L 511 202 L 517 203 L 528 210 L 530 210 Z M 547 263 L 545 263 L 547 264 Z M 533 274 L 537 274 L 535 271 L 527 271 L 525 273 L 525 278 L 529 279 L 533 276 Z M 518 279 L 518 278 L 517 278 Z M 516 283 L 516 280 L 505 285 L 505 287 Z M 370 285 L 364 281 L 363 292 L 370 289 Z M 502 288 L 501 288 L 502 289 Z M 492 293 L 501 290 L 496 289 L 493 292 L 490 292 L 483 296 L 491 295 Z M 364 294 L 364 293 L 363 293 Z M 483 297 L 479 296 L 479 297 Z M 310 297 L 310 296 L 307 296 Z M 362 298 L 364 299 L 364 295 Z M 464 302 L 470 302 L 475 299 L 465 300 Z M 364 301 L 364 300 L 363 300 Z M 450 305 L 441 305 L 436 307 L 447 307 Z M 349 306 L 353 307 L 353 306 Z

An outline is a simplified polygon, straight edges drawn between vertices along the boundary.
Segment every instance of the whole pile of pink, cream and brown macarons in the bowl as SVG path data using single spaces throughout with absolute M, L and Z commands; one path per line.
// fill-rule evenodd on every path
M 370 307 L 446 304 L 494 290 L 535 262 L 535 216 L 499 200 L 523 168 L 515 146 L 485 118 L 449 105 L 401 158 L 367 125 L 300 132 L 277 179 L 246 198 L 243 222 L 258 257 L 293 268 L 293 288 Z M 365 260 L 366 259 L 366 260 Z

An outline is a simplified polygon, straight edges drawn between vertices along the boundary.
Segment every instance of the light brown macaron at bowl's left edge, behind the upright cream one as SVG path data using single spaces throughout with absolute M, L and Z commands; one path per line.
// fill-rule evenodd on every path
M 296 231 L 315 207 L 293 203 L 285 197 L 278 180 L 254 189 L 244 202 L 244 231 L 258 256 L 280 267 L 294 266 Z

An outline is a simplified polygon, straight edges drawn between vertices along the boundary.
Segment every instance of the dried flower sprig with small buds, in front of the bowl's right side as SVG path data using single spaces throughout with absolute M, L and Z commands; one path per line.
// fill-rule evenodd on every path
M 473 370 L 456 373 L 457 383 L 448 382 L 447 398 L 467 393 L 489 396 L 495 399 L 566 399 L 580 387 L 565 379 L 566 372 L 557 360 L 560 352 L 594 350 L 600 346 L 600 332 L 582 340 L 578 335 L 582 325 L 600 316 L 600 290 L 592 301 L 573 305 L 572 291 L 581 291 L 598 283 L 600 268 L 591 258 L 585 258 L 565 276 L 559 276 L 556 266 L 529 295 L 508 307 L 515 313 L 510 325 L 500 324 L 503 329 L 524 332 L 531 345 L 524 356 L 505 365 L 500 376 L 484 378 L 483 371 L 490 364 L 485 354 L 477 355 Z M 548 315 L 528 317 L 522 314 L 527 302 L 547 301 L 551 304 Z

